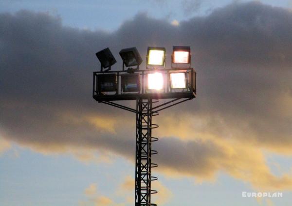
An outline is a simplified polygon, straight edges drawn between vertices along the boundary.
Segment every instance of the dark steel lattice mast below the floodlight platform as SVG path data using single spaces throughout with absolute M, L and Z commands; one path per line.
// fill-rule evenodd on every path
M 157 193 L 151 190 L 151 181 L 157 177 L 151 175 L 151 168 L 158 165 L 151 162 L 151 155 L 158 152 L 152 150 L 152 142 L 158 140 L 151 136 L 152 128 L 158 125 L 152 124 L 152 100 L 137 99 L 136 113 L 136 174 L 135 174 L 135 206 L 155 206 L 151 204 L 151 194 Z

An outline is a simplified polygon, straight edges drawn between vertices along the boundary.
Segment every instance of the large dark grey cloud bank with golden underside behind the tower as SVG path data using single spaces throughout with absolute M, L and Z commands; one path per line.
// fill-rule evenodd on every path
M 140 14 L 111 33 L 20 11 L 0 14 L 0 27 L 5 141 L 45 154 L 91 159 L 98 149 L 132 160 L 135 116 L 92 99 L 92 71 L 99 65 L 94 53 L 109 47 L 117 56 L 121 48 L 136 46 L 146 56 L 147 46 L 171 51 L 172 45 L 189 45 L 198 98 L 153 119 L 160 124 L 153 131 L 160 138 L 153 144 L 159 171 L 202 180 L 224 171 L 255 188 L 292 189 L 291 175 L 272 174 L 263 154 L 292 154 L 290 11 L 233 3 L 179 26 Z M 121 65 L 117 60 L 113 69 Z

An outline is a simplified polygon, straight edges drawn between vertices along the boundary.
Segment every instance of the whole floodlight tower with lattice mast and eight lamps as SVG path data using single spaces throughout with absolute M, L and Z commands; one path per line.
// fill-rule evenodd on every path
M 171 68 L 165 68 L 165 48 L 148 47 L 146 69 L 139 69 L 142 58 L 137 48 L 125 48 L 119 52 L 123 69 L 110 71 L 116 63 L 109 48 L 96 53 L 101 63 L 99 72 L 93 72 L 93 98 L 136 114 L 136 161 L 135 161 L 135 206 L 157 206 L 151 203 L 151 181 L 158 178 L 152 175 L 151 168 L 158 165 L 152 162 L 152 117 L 159 115 L 171 106 L 196 97 L 196 71 L 191 67 L 190 47 L 173 47 Z M 136 66 L 136 68 L 132 68 Z M 127 70 L 125 70 L 127 67 Z M 106 70 L 103 70 L 107 68 Z M 160 99 L 170 99 L 159 103 Z M 113 101 L 136 100 L 136 108 L 130 108 Z

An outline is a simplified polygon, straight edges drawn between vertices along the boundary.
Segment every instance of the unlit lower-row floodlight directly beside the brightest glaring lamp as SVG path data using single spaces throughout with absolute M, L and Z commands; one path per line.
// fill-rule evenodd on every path
M 122 74 L 123 92 L 140 92 L 140 74 Z

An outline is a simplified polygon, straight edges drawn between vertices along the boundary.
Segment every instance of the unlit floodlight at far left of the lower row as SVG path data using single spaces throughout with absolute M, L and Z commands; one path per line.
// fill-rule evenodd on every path
M 98 92 L 116 92 L 117 76 L 116 74 L 100 74 L 97 76 Z

